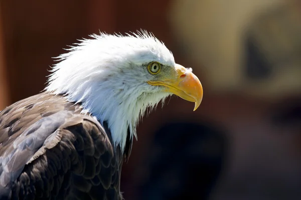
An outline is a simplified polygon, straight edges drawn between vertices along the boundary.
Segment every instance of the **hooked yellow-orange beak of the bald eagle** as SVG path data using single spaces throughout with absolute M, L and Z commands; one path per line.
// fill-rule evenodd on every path
M 180 64 L 175 65 L 176 77 L 161 81 L 148 81 L 151 85 L 166 87 L 166 91 L 174 93 L 181 98 L 195 102 L 194 111 L 199 107 L 203 98 L 203 87 L 199 78 L 189 69 Z

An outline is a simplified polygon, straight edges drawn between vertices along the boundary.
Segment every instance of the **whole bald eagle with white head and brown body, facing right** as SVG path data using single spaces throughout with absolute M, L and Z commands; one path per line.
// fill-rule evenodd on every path
M 200 105 L 199 79 L 153 34 L 90 36 L 57 57 L 45 90 L 0 112 L 1 199 L 122 199 L 146 108 L 171 94 Z

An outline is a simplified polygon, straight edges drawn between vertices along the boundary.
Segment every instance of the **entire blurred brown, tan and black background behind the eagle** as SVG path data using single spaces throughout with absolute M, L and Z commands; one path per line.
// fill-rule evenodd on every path
M 125 199 L 300 199 L 300 0 L 1 0 L 0 109 L 41 91 L 76 39 L 140 28 L 193 68 L 204 98 L 143 118 Z

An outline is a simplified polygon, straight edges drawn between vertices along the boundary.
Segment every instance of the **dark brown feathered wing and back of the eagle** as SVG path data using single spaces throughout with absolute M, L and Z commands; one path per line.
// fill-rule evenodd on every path
M 121 198 L 121 153 L 80 111 L 42 93 L 0 112 L 1 199 Z

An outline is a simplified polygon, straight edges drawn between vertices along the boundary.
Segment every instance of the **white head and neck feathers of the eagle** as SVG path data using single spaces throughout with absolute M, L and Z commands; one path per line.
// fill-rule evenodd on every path
M 127 129 L 136 137 L 136 125 L 147 107 L 153 108 L 169 93 L 149 85 L 145 64 L 175 65 L 171 51 L 155 36 L 142 31 L 126 36 L 90 35 L 62 54 L 52 69 L 47 91 L 68 94 L 103 123 L 107 121 L 114 145 L 124 150 Z

